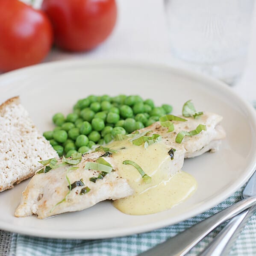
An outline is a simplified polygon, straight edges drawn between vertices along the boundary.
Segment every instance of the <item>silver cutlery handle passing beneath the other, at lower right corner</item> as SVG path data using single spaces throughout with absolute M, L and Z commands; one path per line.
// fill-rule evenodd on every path
M 216 235 L 214 240 L 206 247 L 200 256 L 227 256 L 229 255 L 232 246 L 238 238 L 241 231 L 256 211 L 256 206 L 235 216 L 221 232 Z

